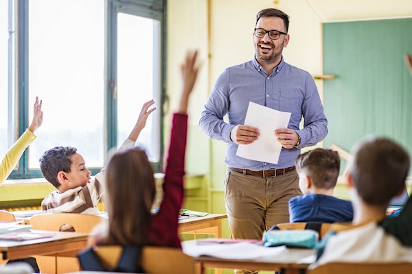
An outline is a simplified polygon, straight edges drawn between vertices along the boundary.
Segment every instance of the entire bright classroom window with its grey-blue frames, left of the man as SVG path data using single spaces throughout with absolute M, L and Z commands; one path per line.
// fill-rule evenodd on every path
M 0 157 L 31 123 L 36 96 L 45 113 L 9 179 L 41 177 L 38 158 L 57 145 L 76 147 L 97 173 L 149 99 L 157 111 L 138 145 L 159 171 L 164 6 L 164 0 L 0 1 Z

